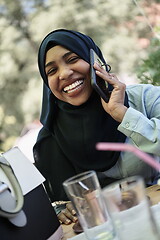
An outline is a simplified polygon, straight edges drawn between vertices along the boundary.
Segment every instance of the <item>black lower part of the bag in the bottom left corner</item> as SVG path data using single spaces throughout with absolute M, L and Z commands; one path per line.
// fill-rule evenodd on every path
M 60 226 L 56 213 L 42 185 L 24 196 L 23 210 L 27 217 L 24 227 L 16 227 L 0 217 L 1 240 L 46 240 Z

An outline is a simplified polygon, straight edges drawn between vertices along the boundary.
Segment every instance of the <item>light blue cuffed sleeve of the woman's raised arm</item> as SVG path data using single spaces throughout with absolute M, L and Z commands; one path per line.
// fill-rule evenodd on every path
M 144 152 L 160 156 L 160 86 L 128 86 L 129 108 L 118 130 Z

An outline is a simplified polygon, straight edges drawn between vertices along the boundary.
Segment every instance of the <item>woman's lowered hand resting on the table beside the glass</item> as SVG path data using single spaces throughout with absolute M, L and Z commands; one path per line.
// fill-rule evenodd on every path
M 66 204 L 66 208 L 63 209 L 57 216 L 60 222 L 66 225 L 78 221 L 76 217 L 76 211 L 74 210 L 73 205 L 70 202 Z

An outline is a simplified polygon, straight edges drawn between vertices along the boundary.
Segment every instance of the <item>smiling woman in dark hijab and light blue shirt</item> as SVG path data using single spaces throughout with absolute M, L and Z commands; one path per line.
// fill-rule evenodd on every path
M 109 102 L 91 86 L 90 50 L 106 69 L 94 64 L 96 76 L 112 90 Z M 98 151 L 98 142 L 128 143 L 160 161 L 160 87 L 137 84 L 125 86 L 107 72 L 99 47 L 87 35 L 58 29 L 42 41 L 38 53 L 44 81 L 41 123 L 34 146 L 37 168 L 46 178 L 52 202 L 68 201 L 62 183 L 78 173 L 95 170 L 102 187 L 125 177 L 140 175 L 147 185 L 159 177 L 129 152 Z M 76 221 L 72 208 L 58 206 L 59 219 Z

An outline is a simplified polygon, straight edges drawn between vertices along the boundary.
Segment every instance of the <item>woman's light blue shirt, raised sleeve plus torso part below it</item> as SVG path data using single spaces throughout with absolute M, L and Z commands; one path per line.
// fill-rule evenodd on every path
M 125 143 L 136 145 L 152 154 L 160 162 L 160 86 L 137 84 L 127 86 L 129 108 L 118 126 L 127 138 Z M 131 152 L 121 152 L 117 163 L 105 175 L 125 178 L 140 175 L 147 184 L 152 184 L 160 173 Z

